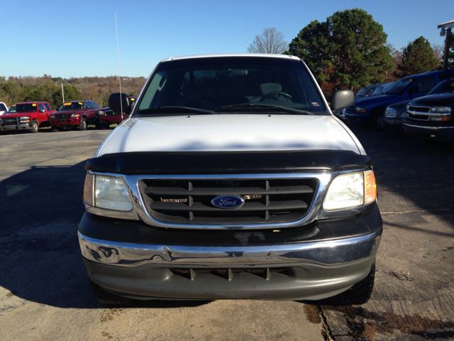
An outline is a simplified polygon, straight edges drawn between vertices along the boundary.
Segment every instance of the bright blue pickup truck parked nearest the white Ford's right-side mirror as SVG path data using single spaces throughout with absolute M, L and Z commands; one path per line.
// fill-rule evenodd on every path
M 421 97 L 442 80 L 454 77 L 454 69 L 437 70 L 404 77 L 395 82 L 381 96 L 356 99 L 352 107 L 345 109 L 345 118 L 352 122 L 377 124 L 390 104 Z

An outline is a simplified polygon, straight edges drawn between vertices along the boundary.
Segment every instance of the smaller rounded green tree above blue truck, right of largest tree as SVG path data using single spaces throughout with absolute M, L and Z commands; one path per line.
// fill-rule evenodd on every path
M 398 65 L 401 77 L 417 75 L 440 66 L 431 43 L 423 36 L 409 43 L 402 51 L 402 64 Z

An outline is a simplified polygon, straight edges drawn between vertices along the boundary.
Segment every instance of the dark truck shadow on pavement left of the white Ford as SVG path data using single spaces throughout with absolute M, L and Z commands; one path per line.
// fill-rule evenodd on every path
M 104 308 L 90 289 L 77 240 L 84 214 L 85 162 L 33 166 L 0 182 L 0 302 L 14 296 L 59 308 Z M 128 307 L 177 308 L 206 301 L 138 301 Z

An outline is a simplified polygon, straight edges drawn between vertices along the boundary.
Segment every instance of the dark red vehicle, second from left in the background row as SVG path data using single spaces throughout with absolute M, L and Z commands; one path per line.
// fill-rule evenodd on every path
M 87 130 L 89 124 L 98 126 L 99 105 L 93 101 L 71 101 L 63 103 L 58 112 L 50 115 L 52 131 L 72 128 Z

